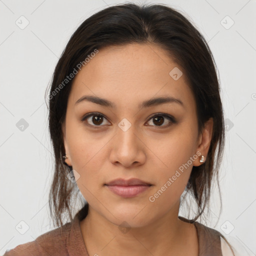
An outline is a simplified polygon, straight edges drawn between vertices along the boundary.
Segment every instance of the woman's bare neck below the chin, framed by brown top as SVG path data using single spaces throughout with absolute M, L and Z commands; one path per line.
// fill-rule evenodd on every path
M 83 240 L 89 255 L 173 255 L 192 244 L 193 224 L 178 219 L 178 206 L 142 227 L 120 227 L 89 206 L 80 221 Z M 184 246 L 185 245 L 185 246 Z M 187 250 L 184 249 L 184 254 Z

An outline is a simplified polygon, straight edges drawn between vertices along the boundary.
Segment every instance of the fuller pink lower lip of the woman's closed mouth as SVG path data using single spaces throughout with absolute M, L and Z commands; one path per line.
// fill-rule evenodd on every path
M 144 192 L 150 187 L 150 185 L 132 185 L 132 186 L 117 186 L 117 185 L 106 185 L 113 193 L 122 197 L 134 197 L 137 194 Z

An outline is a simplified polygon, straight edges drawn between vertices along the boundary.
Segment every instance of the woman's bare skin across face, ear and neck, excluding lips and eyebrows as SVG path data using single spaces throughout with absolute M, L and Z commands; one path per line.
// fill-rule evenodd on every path
M 184 72 L 178 80 L 169 75 L 174 67 L 182 70 L 159 46 L 132 43 L 100 49 L 74 78 L 62 131 L 65 161 L 76 171 L 76 183 L 89 204 L 80 221 L 89 255 L 198 255 L 195 226 L 178 219 L 178 211 L 192 166 L 201 164 L 199 157 L 154 202 L 148 199 L 196 151 L 206 158 L 212 135 L 212 118 L 198 134 L 195 99 Z M 83 95 L 105 98 L 116 108 L 75 104 Z M 167 95 L 183 106 L 171 102 L 138 108 L 143 100 Z M 90 112 L 105 118 L 99 124 L 95 116 L 81 121 Z M 157 125 L 151 118 L 157 113 L 172 115 L 176 123 L 164 117 Z M 118 126 L 123 118 L 131 124 L 126 131 Z M 123 198 L 104 186 L 118 177 L 152 185 Z

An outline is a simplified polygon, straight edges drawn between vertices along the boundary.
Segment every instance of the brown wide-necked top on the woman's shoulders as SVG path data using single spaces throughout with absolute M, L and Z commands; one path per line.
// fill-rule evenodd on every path
M 86 204 L 85 204 L 86 205 Z M 74 216 L 72 221 L 60 227 L 41 234 L 35 240 L 17 245 L 13 249 L 6 250 L 3 256 L 89 256 L 86 250 L 79 221 L 87 212 L 85 206 Z M 178 216 L 179 219 L 189 222 L 188 219 Z M 199 241 L 199 256 L 223 256 L 221 252 L 221 234 L 210 227 L 197 221 L 193 222 L 196 227 Z M 91 255 L 92 256 L 92 255 Z

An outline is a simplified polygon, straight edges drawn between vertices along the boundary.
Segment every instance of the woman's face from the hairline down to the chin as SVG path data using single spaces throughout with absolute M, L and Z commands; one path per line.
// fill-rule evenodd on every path
M 62 125 L 65 161 L 89 207 L 117 225 L 138 227 L 177 211 L 198 154 L 207 153 L 210 130 L 198 134 L 194 97 L 184 74 L 169 74 L 173 68 L 182 71 L 163 49 L 134 43 L 100 49 L 73 80 Z M 77 102 L 85 95 L 106 101 Z M 172 100 L 153 104 L 159 97 Z M 116 178 L 150 186 L 127 197 L 105 185 Z

